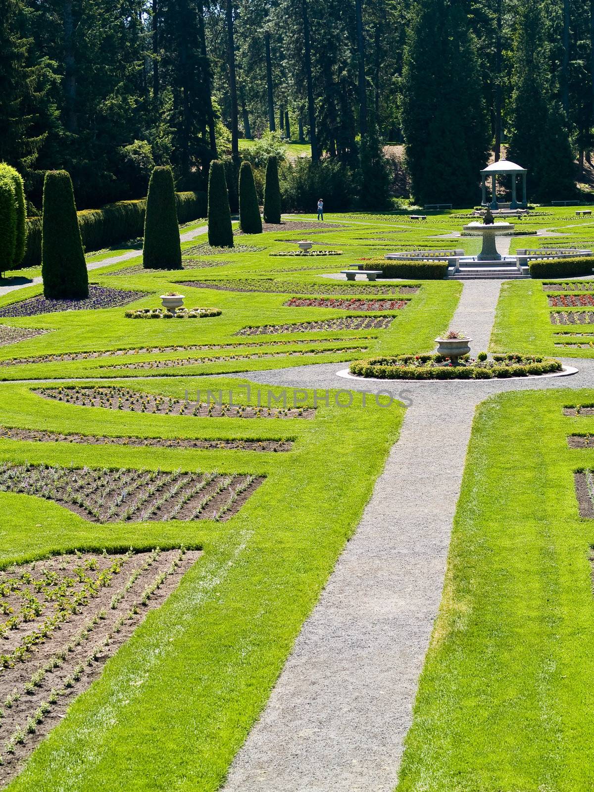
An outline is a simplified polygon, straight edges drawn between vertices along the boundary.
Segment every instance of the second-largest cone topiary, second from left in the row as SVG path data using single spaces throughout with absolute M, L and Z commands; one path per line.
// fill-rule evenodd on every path
M 181 269 L 175 185 L 171 168 L 166 166 L 154 168 L 150 174 L 144 219 L 143 267 Z

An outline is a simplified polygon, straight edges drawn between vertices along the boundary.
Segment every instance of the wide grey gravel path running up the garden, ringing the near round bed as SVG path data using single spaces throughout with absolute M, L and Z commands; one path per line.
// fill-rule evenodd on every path
M 474 352 L 488 347 L 500 287 L 463 282 L 451 326 L 470 334 Z M 504 390 L 594 386 L 594 360 L 578 365 L 570 377 L 402 385 L 337 378 L 340 364 L 250 372 L 255 382 L 291 388 L 387 386 L 406 390 L 411 403 L 360 525 L 224 792 L 394 790 L 444 584 L 474 408 Z

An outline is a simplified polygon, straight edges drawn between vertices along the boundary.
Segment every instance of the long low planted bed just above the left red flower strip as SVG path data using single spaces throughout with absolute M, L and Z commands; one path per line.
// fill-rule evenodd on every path
M 417 294 L 421 286 L 399 286 L 398 284 L 351 284 L 348 282 L 329 284 L 299 284 L 287 280 L 272 278 L 241 279 L 241 280 L 186 280 L 178 283 L 199 289 L 215 291 L 261 291 L 269 294 L 289 295 L 406 295 Z

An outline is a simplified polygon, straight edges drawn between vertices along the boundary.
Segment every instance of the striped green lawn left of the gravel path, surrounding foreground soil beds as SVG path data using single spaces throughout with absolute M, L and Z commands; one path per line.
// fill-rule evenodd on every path
M 233 387 L 234 401 L 241 401 L 238 380 L 199 384 L 203 394 Z M 138 386 L 183 398 L 196 379 Z M 216 790 L 360 520 L 403 409 L 367 400 L 351 409 L 318 403 L 313 420 L 153 416 L 48 401 L 31 387 L 1 386 L 4 421 L 87 434 L 295 437 L 282 455 L 0 441 L 0 459 L 17 462 L 267 477 L 227 523 L 90 524 L 49 501 L 0 493 L 5 562 L 85 546 L 204 548 L 177 591 L 106 664 L 9 788 Z M 251 396 L 255 403 L 254 390 Z M 347 479 L 345 470 L 355 475 Z

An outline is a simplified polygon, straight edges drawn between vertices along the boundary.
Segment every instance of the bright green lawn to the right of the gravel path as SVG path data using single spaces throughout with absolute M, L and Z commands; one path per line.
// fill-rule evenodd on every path
M 398 792 L 582 792 L 594 785 L 594 604 L 573 471 L 592 450 L 562 415 L 594 392 L 501 394 L 478 407 L 440 611 Z

